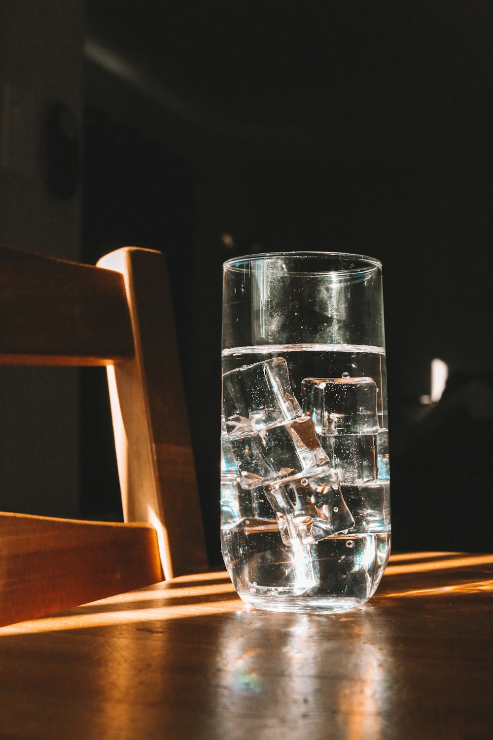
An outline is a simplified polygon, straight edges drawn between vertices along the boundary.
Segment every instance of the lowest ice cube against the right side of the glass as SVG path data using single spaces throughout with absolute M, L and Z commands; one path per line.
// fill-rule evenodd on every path
M 341 491 L 354 518 L 352 531 L 361 534 L 390 532 L 390 483 L 374 480 L 363 485 L 343 483 Z

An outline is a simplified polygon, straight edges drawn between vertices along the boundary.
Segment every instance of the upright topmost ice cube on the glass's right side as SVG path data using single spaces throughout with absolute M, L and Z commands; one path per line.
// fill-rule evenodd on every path
M 318 434 L 376 434 L 377 388 L 371 377 L 306 377 L 302 381 L 305 414 Z

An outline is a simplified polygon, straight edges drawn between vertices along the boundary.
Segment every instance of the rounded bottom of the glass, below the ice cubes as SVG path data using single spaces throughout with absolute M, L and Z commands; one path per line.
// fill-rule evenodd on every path
M 234 588 L 251 607 L 336 613 L 373 596 L 389 558 L 390 533 L 347 534 L 289 547 L 279 529 L 229 530 L 222 548 Z

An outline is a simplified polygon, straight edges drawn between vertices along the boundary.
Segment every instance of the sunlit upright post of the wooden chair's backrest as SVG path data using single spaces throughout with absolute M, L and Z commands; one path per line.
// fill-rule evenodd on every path
M 166 260 L 160 252 L 127 247 L 98 264 L 123 275 L 135 343 L 133 360 L 108 368 L 123 515 L 126 522 L 154 525 L 166 578 L 204 571 Z

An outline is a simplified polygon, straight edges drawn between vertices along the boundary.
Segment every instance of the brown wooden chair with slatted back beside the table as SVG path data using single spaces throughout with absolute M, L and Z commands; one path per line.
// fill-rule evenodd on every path
M 0 514 L 0 625 L 204 571 L 163 255 L 87 266 L 0 248 L 0 363 L 107 367 L 125 520 Z

